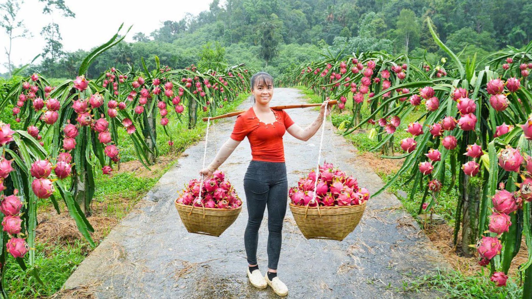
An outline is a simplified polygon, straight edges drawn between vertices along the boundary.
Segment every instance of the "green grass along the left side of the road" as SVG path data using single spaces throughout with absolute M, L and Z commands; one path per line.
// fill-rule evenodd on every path
M 217 114 L 224 114 L 234 111 L 242 103 L 246 95 L 241 94 L 232 102 L 226 102 L 223 108 L 217 110 Z M 130 139 L 125 130 L 119 130 L 119 148 L 121 154 L 121 167 L 138 164 L 132 169 L 113 171 L 111 176 L 102 174 L 99 169 L 95 171 L 95 193 L 93 204 L 95 206 L 93 216 L 95 220 L 102 219 L 103 227 L 99 227 L 98 236 L 94 241 L 99 243 L 118 220 L 125 217 L 144 195 L 159 181 L 159 178 L 176 163 L 179 153 L 184 151 L 195 142 L 201 140 L 205 135 L 206 123 L 201 121 L 203 112 L 198 113 L 196 127 L 188 130 L 186 117 L 182 115 L 182 122 L 174 117 L 167 126 L 169 134 L 172 134 L 173 147 L 168 145 L 169 136 L 164 134 L 161 125 L 157 125 L 157 146 L 159 147 L 159 164 L 152 167 L 148 172 L 140 163 L 136 162 L 137 156 Z M 158 124 L 159 122 L 157 122 Z M 140 168 L 139 168 L 140 167 Z M 141 175 L 145 172 L 145 175 Z M 66 185 L 70 185 L 66 179 Z M 56 197 L 60 199 L 59 194 Z M 56 215 L 49 200 L 39 200 L 38 215 Z M 68 214 L 64 204 L 60 202 L 62 214 Z M 112 221 L 106 218 L 111 218 Z M 55 218 L 48 218 L 53 221 Z M 89 219 L 89 221 L 95 221 Z M 71 221 L 70 219 L 62 221 Z M 92 223 L 93 226 L 95 223 Z M 96 223 L 98 225 L 98 223 Z M 98 231 L 98 227 L 95 226 Z M 39 227 L 38 229 L 39 230 Z M 39 235 L 37 235 L 39 238 Z M 36 240 L 35 268 L 39 269 L 39 277 L 43 284 L 39 284 L 30 272 L 20 269 L 18 263 L 11 255 L 7 254 L 5 266 L 5 288 L 12 298 L 41 298 L 52 296 L 64 284 L 70 274 L 76 270 L 77 266 L 92 251 L 88 242 L 84 238 L 78 237 L 75 240 L 62 240 L 62 236 L 49 236 L 46 240 Z

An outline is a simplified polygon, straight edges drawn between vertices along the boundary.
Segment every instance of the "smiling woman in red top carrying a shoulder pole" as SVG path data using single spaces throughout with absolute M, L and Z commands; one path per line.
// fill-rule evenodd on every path
M 330 112 L 327 102 L 320 107 L 315 121 L 302 129 L 284 110 L 270 108 L 273 96 L 273 78 L 265 72 L 251 78 L 254 105 L 236 118 L 231 137 L 223 144 L 212 163 L 200 174 L 212 173 L 231 155 L 240 141 L 247 136 L 251 144 L 252 160 L 244 176 L 244 191 L 248 211 L 244 245 L 247 254 L 247 276 L 253 286 L 273 288 L 279 296 L 286 296 L 288 288 L 277 277 L 277 263 L 281 251 L 282 223 L 285 218 L 288 198 L 285 153 L 282 136 L 287 131 L 303 141 L 309 140 L 320 128 L 323 114 Z M 268 273 L 262 277 L 257 264 L 256 252 L 259 242 L 259 227 L 264 210 L 268 207 Z

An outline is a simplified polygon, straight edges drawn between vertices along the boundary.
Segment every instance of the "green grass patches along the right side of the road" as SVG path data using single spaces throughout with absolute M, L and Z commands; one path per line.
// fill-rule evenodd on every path
M 315 95 L 312 90 L 307 89 L 306 87 L 298 86 L 296 87 L 301 90 L 303 95 L 307 98 L 309 102 L 321 102 L 322 98 L 318 95 Z M 339 113 L 336 109 L 332 114 L 332 124 L 336 127 L 342 127 L 342 124 L 351 121 L 351 109 L 352 101 L 350 97 L 347 97 L 348 101 L 346 102 L 346 108 L 348 113 Z M 419 109 L 419 108 L 418 108 Z M 365 119 L 370 116 L 367 105 L 364 104 L 361 110 L 362 119 Z M 401 139 L 410 137 L 411 135 L 404 130 L 410 122 L 416 121 L 421 112 L 419 110 L 414 110 L 410 115 L 406 116 L 405 119 L 402 119 L 401 125 L 397 128 L 397 131 L 394 134 L 393 138 L 393 149 L 394 152 L 402 153 L 403 151 L 400 148 Z M 374 126 L 371 126 L 374 127 Z M 368 155 L 370 151 L 375 148 L 378 143 L 377 138 L 371 139 L 369 136 L 370 127 L 367 125 L 362 125 L 358 130 L 354 131 L 351 134 L 348 134 L 345 137 L 346 140 L 350 141 L 353 146 L 358 149 L 358 155 L 361 159 L 370 159 L 369 163 L 379 159 L 378 154 L 376 156 Z M 386 133 L 384 133 L 386 134 Z M 390 161 L 389 159 L 384 159 L 382 161 Z M 371 163 L 375 165 L 375 163 Z M 375 167 L 375 166 L 374 166 Z M 380 171 L 376 168 L 376 173 L 381 177 L 381 179 L 387 183 L 395 175 L 396 171 Z M 456 186 L 451 187 L 451 172 L 450 169 L 446 169 L 446 180 L 445 184 L 442 187 L 442 192 L 439 192 L 437 198 L 437 204 L 434 206 L 434 212 L 442 216 L 447 225 L 454 227 L 454 217 L 457 198 L 459 197 Z M 418 188 L 417 191 L 413 194 L 413 197 L 410 198 L 410 190 L 413 189 L 413 182 L 408 181 L 409 176 L 403 175 L 398 178 L 392 185 L 387 189 L 388 192 L 394 193 L 397 195 L 397 198 L 401 201 L 404 209 L 408 211 L 414 219 L 417 219 L 418 211 L 421 206 L 421 201 L 423 199 L 424 189 Z M 423 186 L 427 185 L 428 178 L 425 178 Z M 405 192 L 409 194 L 407 198 L 403 198 L 398 194 L 402 193 L 399 191 L 408 191 Z M 430 198 L 427 198 L 426 201 L 429 201 Z M 420 225 L 422 225 L 421 220 L 417 219 Z M 451 241 L 452 242 L 452 241 Z M 484 271 L 484 269 L 483 269 Z M 397 291 L 418 293 L 425 292 L 428 289 L 436 290 L 441 294 L 442 298 L 486 298 L 486 299 L 502 299 L 502 298 L 520 298 L 522 294 L 522 288 L 516 284 L 518 279 L 515 276 L 511 276 L 508 280 L 508 286 L 506 287 L 496 287 L 495 284 L 489 280 L 489 273 L 477 272 L 475 275 L 464 275 L 458 271 L 447 271 L 442 272 L 438 271 L 435 274 L 431 274 L 424 277 L 409 277 L 409 279 L 403 281 L 403 288 Z M 519 281 L 517 281 L 519 282 Z

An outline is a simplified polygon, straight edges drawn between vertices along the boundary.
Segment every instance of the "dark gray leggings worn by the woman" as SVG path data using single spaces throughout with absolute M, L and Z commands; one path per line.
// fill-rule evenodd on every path
M 259 227 L 268 206 L 268 268 L 277 270 L 282 241 L 282 221 L 288 201 L 288 181 L 285 163 L 250 162 L 244 176 L 247 203 L 247 226 L 244 233 L 247 262 L 257 263 Z

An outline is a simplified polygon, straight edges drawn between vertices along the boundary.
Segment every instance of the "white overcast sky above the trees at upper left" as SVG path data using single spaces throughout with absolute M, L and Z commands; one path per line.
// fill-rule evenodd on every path
M 65 0 L 66 6 L 76 14 L 76 18 L 64 18 L 59 13 L 43 14 L 44 3 L 26 0 L 21 5 L 18 18 L 24 21 L 33 37 L 13 40 L 11 62 L 15 66 L 27 64 L 42 52 L 45 41 L 39 33 L 52 18 L 59 24 L 63 50 L 72 52 L 103 44 L 117 32 L 122 22 L 122 34 L 133 25 L 125 39 L 133 41 L 132 37 L 136 32 L 144 32 L 148 36 L 153 30 L 161 27 L 161 22 L 179 21 L 187 12 L 197 15 L 209 9 L 211 2 L 212 0 Z M 5 0 L 0 0 L 0 3 L 5 3 Z M 7 71 L 4 67 L 7 62 L 4 46 L 9 47 L 9 38 L 3 28 L 0 29 L 0 73 L 4 73 Z

